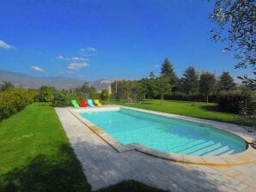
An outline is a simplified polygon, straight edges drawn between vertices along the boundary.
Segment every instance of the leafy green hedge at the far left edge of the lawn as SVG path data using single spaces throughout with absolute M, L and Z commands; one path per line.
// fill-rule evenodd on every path
M 0 121 L 23 110 L 34 101 L 34 94 L 23 88 L 9 88 L 0 93 Z

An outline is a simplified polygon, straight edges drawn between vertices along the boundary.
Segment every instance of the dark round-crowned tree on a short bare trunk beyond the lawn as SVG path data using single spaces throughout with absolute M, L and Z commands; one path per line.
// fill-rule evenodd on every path
M 209 72 L 200 75 L 199 92 L 206 96 L 206 103 L 208 103 L 208 96 L 214 91 L 215 81 L 215 76 Z

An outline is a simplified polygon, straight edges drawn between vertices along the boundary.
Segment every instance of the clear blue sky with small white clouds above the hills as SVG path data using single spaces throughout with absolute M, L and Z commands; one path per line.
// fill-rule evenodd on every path
M 235 60 L 210 41 L 207 0 L 1 0 L 0 69 L 85 81 L 159 73 L 188 65 L 220 75 Z

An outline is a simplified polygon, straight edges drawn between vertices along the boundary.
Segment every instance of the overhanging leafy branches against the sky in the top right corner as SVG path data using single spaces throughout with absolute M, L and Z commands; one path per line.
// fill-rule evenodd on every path
M 240 77 L 256 86 L 256 6 L 255 0 L 216 0 L 211 21 L 217 27 L 211 30 L 211 39 L 225 42 L 224 52 L 234 52 L 238 59 L 235 68 L 253 69 L 254 77 Z

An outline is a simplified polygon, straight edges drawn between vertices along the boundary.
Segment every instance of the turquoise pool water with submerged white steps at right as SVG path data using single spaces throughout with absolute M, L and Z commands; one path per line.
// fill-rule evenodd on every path
M 189 155 L 229 155 L 246 143 L 210 126 L 121 108 L 81 114 L 123 144 L 140 143 L 156 150 Z

